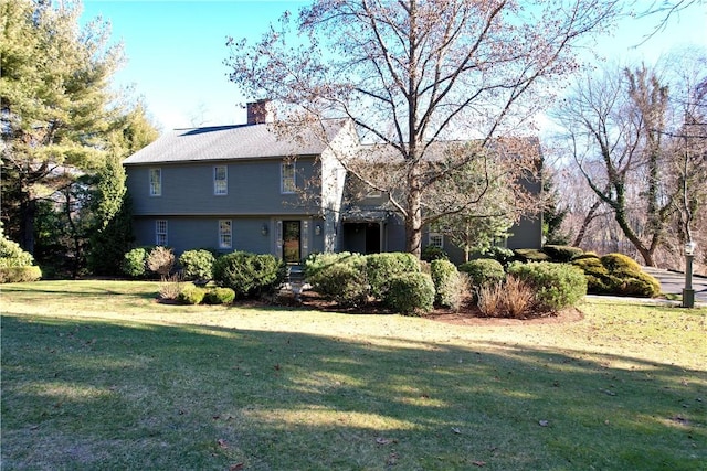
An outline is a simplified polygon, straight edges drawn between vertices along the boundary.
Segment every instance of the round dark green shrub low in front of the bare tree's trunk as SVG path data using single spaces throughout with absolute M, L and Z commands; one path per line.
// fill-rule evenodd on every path
M 419 271 L 393 277 L 383 300 L 390 309 L 404 315 L 420 315 L 434 307 L 432 277 Z

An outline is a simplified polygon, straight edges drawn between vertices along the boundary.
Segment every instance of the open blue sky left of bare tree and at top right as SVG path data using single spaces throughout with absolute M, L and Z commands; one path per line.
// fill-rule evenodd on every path
M 639 0 L 651 4 L 653 0 Z M 83 18 L 102 15 L 112 23 L 113 42 L 123 41 L 127 65 L 115 85 L 133 85 L 162 130 L 240 124 L 245 101 L 228 81 L 226 36 L 257 40 L 285 10 L 300 1 L 107 1 L 84 0 Z M 624 21 L 616 35 L 598 47 L 609 60 L 652 64 L 677 44 L 707 47 L 707 6 L 671 20 L 666 31 L 644 44 L 657 18 Z

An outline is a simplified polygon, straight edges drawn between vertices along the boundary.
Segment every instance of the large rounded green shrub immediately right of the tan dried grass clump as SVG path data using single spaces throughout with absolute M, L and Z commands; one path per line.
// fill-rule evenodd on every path
M 587 295 L 587 278 L 579 268 L 548 261 L 513 264 L 508 274 L 528 283 L 538 309 L 556 311 L 574 306 Z

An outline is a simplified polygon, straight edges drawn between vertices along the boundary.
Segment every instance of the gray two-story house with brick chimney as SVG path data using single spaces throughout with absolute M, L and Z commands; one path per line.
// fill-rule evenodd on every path
M 275 130 L 267 101 L 250 104 L 247 117 L 245 125 L 170 131 L 123 162 L 138 245 L 177 254 L 238 249 L 291 264 L 316 251 L 404 250 L 402 217 L 384 195 L 345 199 L 340 159 L 360 148 L 349 121 L 325 121 L 323 139 Z M 516 231 L 520 246 L 539 247 L 540 227 L 524 222 Z M 442 235 L 424 237 L 460 253 Z

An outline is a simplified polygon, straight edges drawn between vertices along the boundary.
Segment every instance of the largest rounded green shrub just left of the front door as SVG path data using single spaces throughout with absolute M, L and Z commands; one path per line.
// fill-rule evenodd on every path
M 236 250 L 217 258 L 213 265 L 213 280 L 231 288 L 239 299 L 272 293 L 284 279 L 284 263 L 270 254 Z

